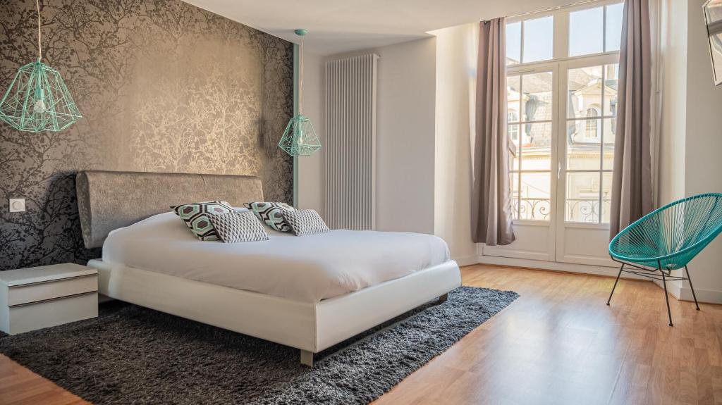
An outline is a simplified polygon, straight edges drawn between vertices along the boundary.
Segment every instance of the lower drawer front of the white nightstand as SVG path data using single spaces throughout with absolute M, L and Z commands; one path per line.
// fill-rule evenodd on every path
M 84 293 L 7 308 L 9 334 L 48 328 L 97 316 L 97 293 Z M 1 316 L 0 316 L 1 318 Z M 0 319 L 1 323 L 1 319 Z

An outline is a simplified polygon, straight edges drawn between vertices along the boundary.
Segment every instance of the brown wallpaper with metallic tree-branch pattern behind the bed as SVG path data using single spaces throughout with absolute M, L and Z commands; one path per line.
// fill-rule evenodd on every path
M 291 203 L 293 48 L 180 0 L 41 0 L 43 59 L 84 119 L 61 133 L 0 123 L 0 270 L 83 263 L 79 170 L 253 174 Z M 34 0 L 0 1 L 0 91 L 37 58 Z M 25 197 L 27 212 L 9 213 Z

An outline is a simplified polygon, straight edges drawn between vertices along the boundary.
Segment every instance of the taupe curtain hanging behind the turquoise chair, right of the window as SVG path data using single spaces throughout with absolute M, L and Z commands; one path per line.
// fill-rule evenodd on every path
M 626 0 L 619 53 L 611 237 L 653 209 L 649 0 Z

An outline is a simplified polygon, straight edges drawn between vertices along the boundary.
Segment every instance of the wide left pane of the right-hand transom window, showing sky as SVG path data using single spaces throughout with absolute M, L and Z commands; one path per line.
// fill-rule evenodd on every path
M 569 55 L 601 53 L 604 48 L 604 7 L 569 13 Z

